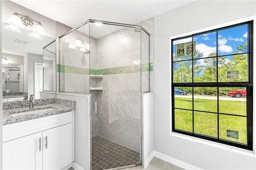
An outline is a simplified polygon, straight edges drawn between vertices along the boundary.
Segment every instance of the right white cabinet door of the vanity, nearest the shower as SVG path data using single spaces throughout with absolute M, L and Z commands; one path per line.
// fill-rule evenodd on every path
M 72 162 L 72 123 L 43 131 L 43 169 L 61 169 Z

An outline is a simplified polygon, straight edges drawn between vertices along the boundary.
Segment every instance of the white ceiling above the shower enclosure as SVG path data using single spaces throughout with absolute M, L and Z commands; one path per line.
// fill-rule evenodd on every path
M 88 19 L 136 24 L 195 0 L 11 0 L 72 28 Z

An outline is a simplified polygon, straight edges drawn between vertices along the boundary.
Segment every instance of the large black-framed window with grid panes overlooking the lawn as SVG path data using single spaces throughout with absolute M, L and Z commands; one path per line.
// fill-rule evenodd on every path
M 252 22 L 171 40 L 172 131 L 252 150 Z

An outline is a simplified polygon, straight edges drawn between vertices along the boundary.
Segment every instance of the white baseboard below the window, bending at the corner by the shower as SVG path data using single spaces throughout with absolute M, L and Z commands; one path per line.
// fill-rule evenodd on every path
M 202 168 L 198 168 L 196 166 L 193 166 L 191 164 L 188 164 L 186 162 L 183 162 L 181 160 L 178 160 L 176 158 L 172 158 L 171 156 L 162 154 L 160 152 L 157 152 L 155 150 L 153 150 L 153 152 L 150 154 L 150 156 L 148 157 L 148 159 L 144 162 L 144 168 L 146 168 L 148 166 L 148 164 L 150 163 L 150 161 L 155 157 L 162 159 L 166 162 L 169 162 L 171 164 L 174 164 L 176 166 L 179 166 L 180 168 L 183 168 L 185 170 L 203 170 Z

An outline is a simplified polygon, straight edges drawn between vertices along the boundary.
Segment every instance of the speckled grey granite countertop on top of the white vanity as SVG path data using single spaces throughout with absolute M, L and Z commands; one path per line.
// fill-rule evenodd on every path
M 27 121 L 40 117 L 56 115 L 59 113 L 65 113 L 73 111 L 76 108 L 75 101 L 66 99 L 35 99 L 33 109 L 29 109 L 29 101 L 14 101 L 3 103 L 3 125 L 11 123 L 17 123 L 21 121 Z M 41 109 L 47 109 L 42 110 Z M 31 113 L 30 111 L 38 111 Z M 26 112 L 30 112 L 26 114 Z

